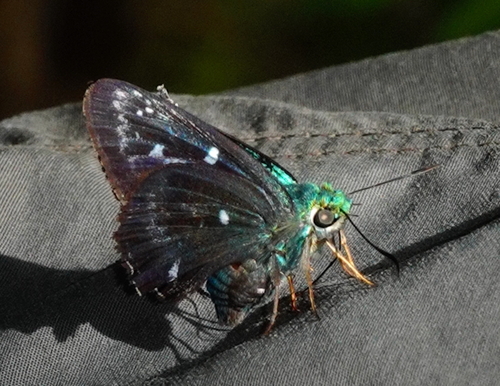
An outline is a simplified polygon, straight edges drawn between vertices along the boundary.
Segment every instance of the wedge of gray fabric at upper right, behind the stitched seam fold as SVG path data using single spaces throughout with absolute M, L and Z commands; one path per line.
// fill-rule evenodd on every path
M 498 32 L 226 92 L 327 111 L 499 121 Z

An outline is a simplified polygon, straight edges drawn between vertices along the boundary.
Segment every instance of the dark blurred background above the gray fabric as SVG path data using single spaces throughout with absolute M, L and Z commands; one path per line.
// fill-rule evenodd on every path
M 212 93 L 497 28 L 498 0 L 0 0 L 0 119 L 101 77 Z

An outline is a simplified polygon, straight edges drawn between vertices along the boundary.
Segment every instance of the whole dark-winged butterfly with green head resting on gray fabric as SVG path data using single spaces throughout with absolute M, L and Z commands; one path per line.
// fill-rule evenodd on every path
M 83 113 L 121 202 L 114 234 L 120 264 L 142 295 L 178 300 L 205 286 L 220 322 L 234 326 L 274 299 L 301 270 L 316 310 L 311 258 L 326 246 L 366 284 L 346 241 L 352 201 L 329 183 L 298 183 L 253 147 L 203 122 L 162 87 L 151 93 L 101 79 Z

